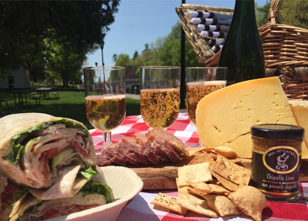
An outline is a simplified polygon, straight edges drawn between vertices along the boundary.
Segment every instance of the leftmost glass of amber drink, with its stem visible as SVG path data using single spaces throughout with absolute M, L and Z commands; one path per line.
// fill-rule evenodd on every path
M 125 118 L 125 68 L 96 66 L 84 68 L 86 117 L 94 128 L 102 130 L 102 147 L 112 144 L 111 130 Z

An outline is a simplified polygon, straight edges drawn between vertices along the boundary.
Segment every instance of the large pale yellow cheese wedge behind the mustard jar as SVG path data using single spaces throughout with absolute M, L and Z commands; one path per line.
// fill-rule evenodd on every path
M 279 77 L 253 79 L 208 94 L 197 105 L 197 134 L 204 146 L 229 146 L 252 157 L 250 128 L 260 123 L 297 125 Z M 308 158 L 303 146 L 303 157 Z

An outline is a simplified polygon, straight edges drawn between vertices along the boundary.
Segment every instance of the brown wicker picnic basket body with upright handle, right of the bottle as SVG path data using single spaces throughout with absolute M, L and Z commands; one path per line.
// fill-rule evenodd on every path
M 279 76 L 286 96 L 308 100 L 308 30 L 279 24 L 280 0 L 272 0 L 268 23 L 259 28 L 265 75 Z M 217 66 L 220 52 L 206 61 Z

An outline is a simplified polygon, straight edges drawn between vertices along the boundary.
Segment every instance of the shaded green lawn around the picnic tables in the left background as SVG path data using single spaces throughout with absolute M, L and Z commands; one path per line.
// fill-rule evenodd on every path
M 2 102 L 3 110 L 0 110 L 0 117 L 8 114 L 24 113 L 24 112 L 39 112 L 51 114 L 53 116 L 63 116 L 70 119 L 81 121 L 88 129 L 93 128 L 88 119 L 86 119 L 86 107 L 84 105 L 84 92 L 75 91 L 59 91 L 60 99 L 55 99 L 53 95 L 49 94 L 49 99 L 41 99 L 40 105 L 36 105 L 35 100 L 29 99 L 28 106 L 18 106 L 18 99 L 16 99 L 17 107 L 14 105 L 13 95 L 9 93 L 0 93 L 0 98 L 10 97 L 12 100 L 8 101 L 8 108 L 5 102 Z M 140 114 L 140 100 L 126 99 L 126 116 Z

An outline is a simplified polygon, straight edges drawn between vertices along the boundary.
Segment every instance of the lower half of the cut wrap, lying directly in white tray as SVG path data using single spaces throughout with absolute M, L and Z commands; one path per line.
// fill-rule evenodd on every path
M 22 197 L 13 203 L 7 220 L 47 220 L 114 201 L 112 190 L 99 167 L 97 172 L 89 180 L 79 174 L 79 182 L 74 186 L 75 195 L 71 197 L 43 200 L 39 190 L 33 192 L 33 189 L 25 188 Z

